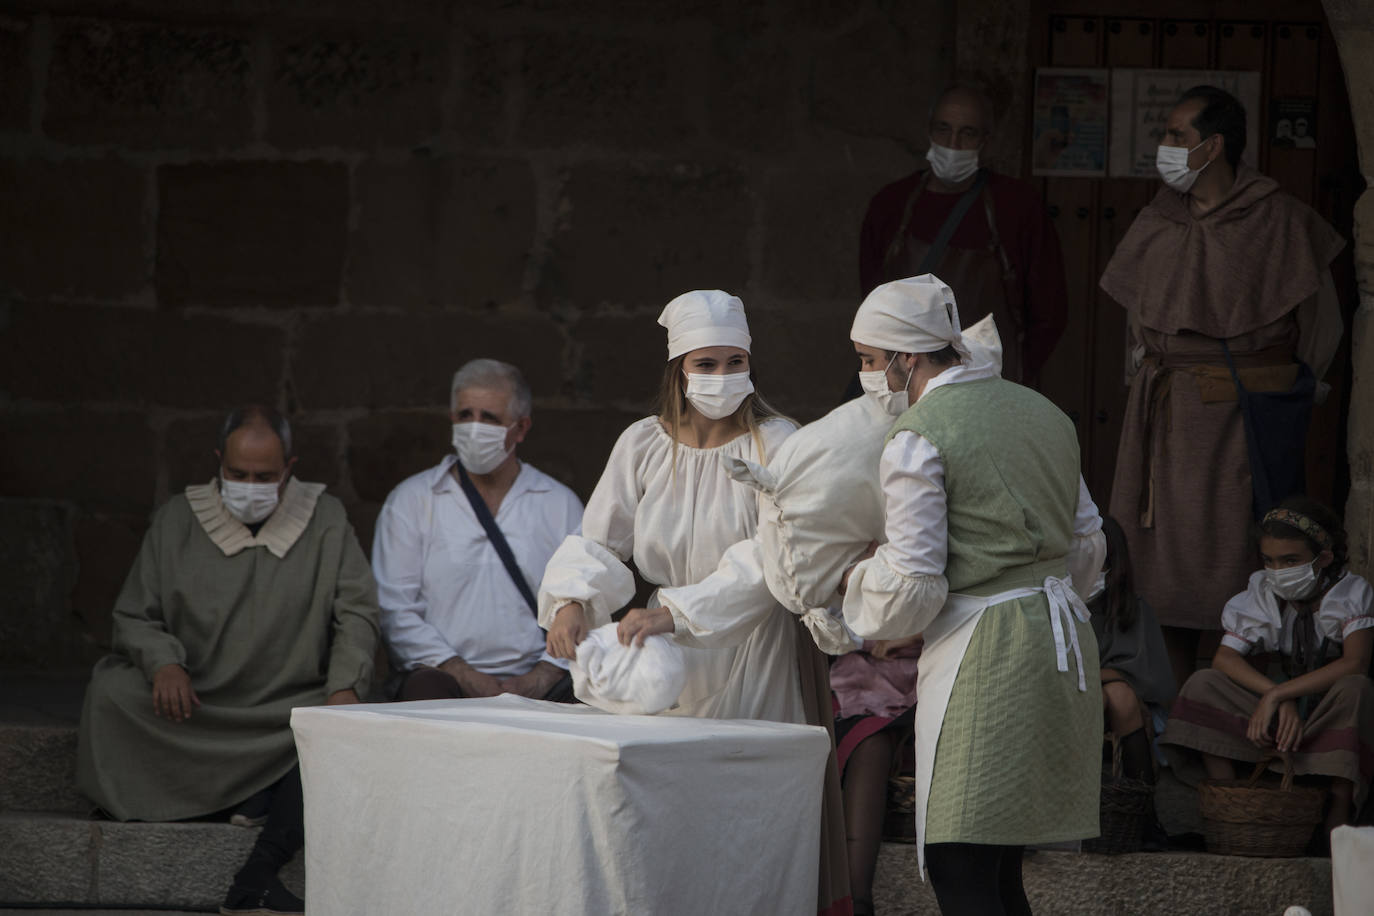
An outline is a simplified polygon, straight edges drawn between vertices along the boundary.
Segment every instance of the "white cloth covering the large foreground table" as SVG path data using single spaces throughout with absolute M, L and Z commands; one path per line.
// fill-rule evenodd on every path
M 824 729 L 514 695 L 291 728 L 311 916 L 816 911 Z

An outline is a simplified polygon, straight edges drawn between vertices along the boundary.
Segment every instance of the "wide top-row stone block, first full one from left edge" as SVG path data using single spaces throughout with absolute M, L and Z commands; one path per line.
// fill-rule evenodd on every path
M 253 140 L 251 69 L 242 29 L 60 19 L 43 126 L 71 143 L 242 147 Z

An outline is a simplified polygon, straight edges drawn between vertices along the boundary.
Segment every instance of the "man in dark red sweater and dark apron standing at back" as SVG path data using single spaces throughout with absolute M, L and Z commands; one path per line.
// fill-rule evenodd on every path
M 1033 386 L 1068 321 L 1063 257 L 1035 187 L 980 168 L 991 128 L 981 92 L 952 87 L 940 95 L 930 110 L 930 168 L 868 203 L 860 282 L 867 295 L 889 280 L 938 275 L 966 325 L 993 316 L 1004 378 Z

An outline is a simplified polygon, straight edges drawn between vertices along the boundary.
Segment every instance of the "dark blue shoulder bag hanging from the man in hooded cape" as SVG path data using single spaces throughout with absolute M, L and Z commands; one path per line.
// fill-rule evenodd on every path
M 1304 456 L 1307 424 L 1316 397 L 1316 376 L 1307 363 L 1298 363 L 1297 379 L 1286 391 L 1246 391 L 1235 371 L 1231 347 L 1221 341 L 1226 365 L 1235 382 L 1245 422 L 1245 448 L 1250 457 L 1250 490 L 1254 520 L 1307 488 Z

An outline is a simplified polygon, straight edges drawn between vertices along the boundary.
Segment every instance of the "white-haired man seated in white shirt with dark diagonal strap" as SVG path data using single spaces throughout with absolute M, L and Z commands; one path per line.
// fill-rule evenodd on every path
M 463 365 L 449 417 L 455 453 L 401 482 L 376 519 L 382 636 L 403 672 L 396 699 L 570 700 L 566 663 L 544 651 L 533 593 L 548 558 L 580 530 L 583 504 L 515 456 L 530 427 L 530 391 L 514 365 Z

